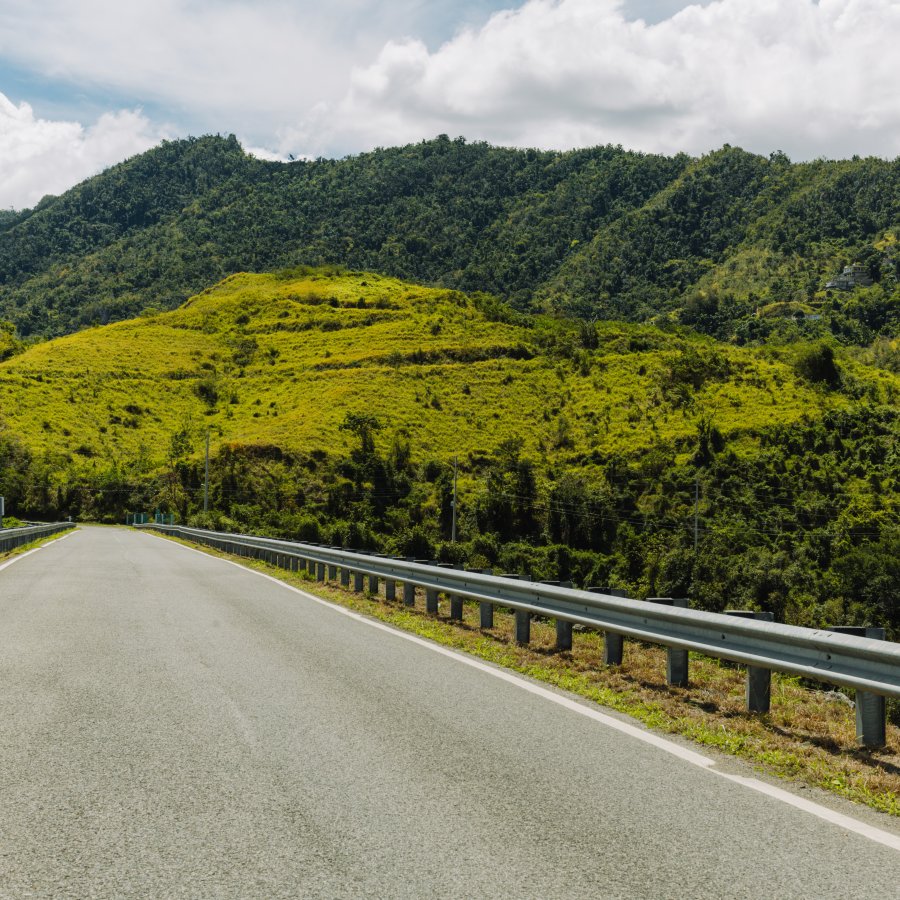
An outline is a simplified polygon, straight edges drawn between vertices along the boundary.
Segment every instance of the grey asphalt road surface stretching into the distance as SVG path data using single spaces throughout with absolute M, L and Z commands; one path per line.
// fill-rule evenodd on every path
M 486 668 L 81 529 L 0 571 L 0 896 L 900 895 L 897 849 Z

